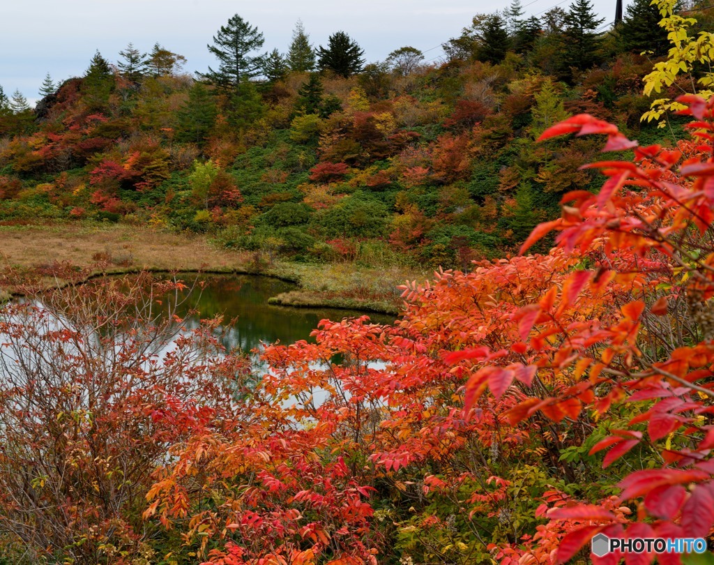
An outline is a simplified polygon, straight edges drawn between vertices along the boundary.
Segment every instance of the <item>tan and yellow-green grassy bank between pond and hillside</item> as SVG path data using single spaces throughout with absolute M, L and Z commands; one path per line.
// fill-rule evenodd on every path
M 0 226 L 0 254 L 5 269 L 51 270 L 57 264 L 90 268 L 92 274 L 132 271 L 205 271 L 262 274 L 293 281 L 299 290 L 271 298 L 285 306 L 328 306 L 396 314 L 396 287 L 421 279 L 403 267 L 356 264 L 298 264 L 257 260 L 246 251 L 220 249 L 199 234 L 174 234 L 145 226 L 68 223 L 48 226 Z M 48 284 L 62 281 L 48 279 Z M 6 299 L 14 289 L 0 289 Z

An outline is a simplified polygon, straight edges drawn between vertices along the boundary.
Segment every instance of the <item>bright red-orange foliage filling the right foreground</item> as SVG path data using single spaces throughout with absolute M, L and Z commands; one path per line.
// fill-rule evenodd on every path
M 549 254 L 409 284 L 393 327 L 269 346 L 236 421 L 174 448 L 146 516 L 188 520 L 225 564 L 550 564 L 601 531 L 708 537 L 714 102 L 680 101 L 693 141 L 674 149 L 585 114 L 545 131 L 634 159 L 590 165 L 599 194 L 565 194 L 523 246 L 556 231 Z

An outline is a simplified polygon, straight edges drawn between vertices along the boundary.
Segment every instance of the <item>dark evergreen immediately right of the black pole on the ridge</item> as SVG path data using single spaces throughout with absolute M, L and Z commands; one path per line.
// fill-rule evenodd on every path
M 667 54 L 667 30 L 660 27 L 660 19 L 658 7 L 650 4 L 650 0 L 634 0 L 628 5 L 623 21 L 615 26 L 620 49 L 635 53 L 653 51 L 655 56 Z

